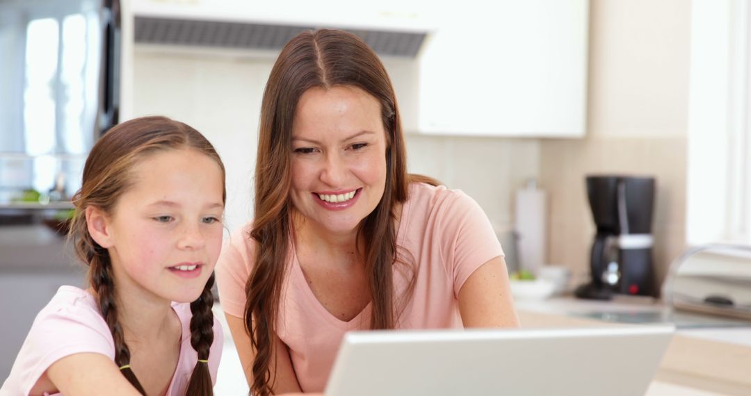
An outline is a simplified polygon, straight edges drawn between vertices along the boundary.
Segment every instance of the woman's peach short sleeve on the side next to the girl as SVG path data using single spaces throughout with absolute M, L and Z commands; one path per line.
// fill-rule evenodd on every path
M 252 260 L 252 240 L 249 226 L 246 225 L 230 235 L 216 263 L 219 303 L 226 314 L 240 318 L 245 315 L 245 285 L 252 269 Z

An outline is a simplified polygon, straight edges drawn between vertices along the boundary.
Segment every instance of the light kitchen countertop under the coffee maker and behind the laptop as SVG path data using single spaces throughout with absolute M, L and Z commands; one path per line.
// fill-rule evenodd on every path
M 654 312 L 659 302 L 590 302 L 572 298 L 517 302 L 523 327 L 629 326 L 587 312 Z M 617 315 L 616 315 L 617 317 Z M 733 324 L 735 326 L 735 324 Z M 751 395 L 749 327 L 677 329 L 647 395 Z

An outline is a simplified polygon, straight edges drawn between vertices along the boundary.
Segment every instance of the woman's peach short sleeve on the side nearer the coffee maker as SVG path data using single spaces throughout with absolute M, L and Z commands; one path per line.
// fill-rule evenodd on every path
M 464 282 L 484 263 L 503 256 L 493 226 L 480 205 L 460 190 L 447 190 L 451 197 L 442 203 L 441 230 L 443 257 L 454 280 L 454 295 L 459 296 Z

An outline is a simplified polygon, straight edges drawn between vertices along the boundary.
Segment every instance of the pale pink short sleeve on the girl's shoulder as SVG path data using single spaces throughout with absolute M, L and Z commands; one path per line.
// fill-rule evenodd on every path
M 65 305 L 42 310 L 21 347 L 14 365 L 19 383 L 28 395 L 53 363 L 77 353 L 99 353 L 115 359 L 115 346 L 107 323 L 86 305 Z

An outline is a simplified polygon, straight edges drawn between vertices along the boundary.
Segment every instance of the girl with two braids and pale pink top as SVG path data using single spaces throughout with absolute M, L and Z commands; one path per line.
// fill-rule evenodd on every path
M 164 117 L 119 124 L 89 153 L 74 204 L 90 287 L 60 287 L 0 394 L 212 395 L 225 169 L 211 143 Z

